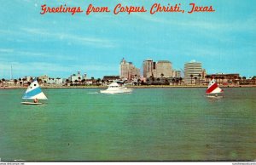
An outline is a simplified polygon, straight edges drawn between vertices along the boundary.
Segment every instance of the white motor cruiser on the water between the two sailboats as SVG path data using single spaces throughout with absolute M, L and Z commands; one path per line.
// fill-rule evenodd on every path
M 108 85 L 106 90 L 101 90 L 102 94 L 121 94 L 121 93 L 131 93 L 133 88 L 125 88 L 123 83 L 113 82 Z

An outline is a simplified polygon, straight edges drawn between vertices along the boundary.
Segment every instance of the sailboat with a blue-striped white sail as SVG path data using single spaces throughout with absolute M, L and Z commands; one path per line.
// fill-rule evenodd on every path
M 38 81 L 35 79 L 26 89 L 25 94 L 22 99 L 24 100 L 34 100 L 33 102 L 21 102 L 24 105 L 42 105 L 43 103 L 39 103 L 38 100 L 47 100 L 47 97 L 42 92 L 39 87 Z

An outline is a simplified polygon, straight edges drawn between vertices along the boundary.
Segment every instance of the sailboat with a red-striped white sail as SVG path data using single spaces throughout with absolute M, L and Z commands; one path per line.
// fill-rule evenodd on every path
M 207 94 L 207 97 L 210 97 L 210 98 L 223 97 L 224 90 L 218 87 L 218 84 L 213 78 L 211 82 L 208 84 L 206 94 Z

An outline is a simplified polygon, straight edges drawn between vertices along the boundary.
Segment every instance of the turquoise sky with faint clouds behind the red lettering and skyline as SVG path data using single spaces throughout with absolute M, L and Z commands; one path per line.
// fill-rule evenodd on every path
M 40 14 L 41 5 L 107 6 L 109 13 Z M 181 13 L 120 13 L 114 7 L 181 4 Z M 188 14 L 189 3 L 215 12 Z M 122 58 L 169 60 L 183 69 L 200 61 L 208 74 L 256 76 L 256 1 L 252 0 L 12 0 L 1 2 L 0 78 L 119 75 Z

